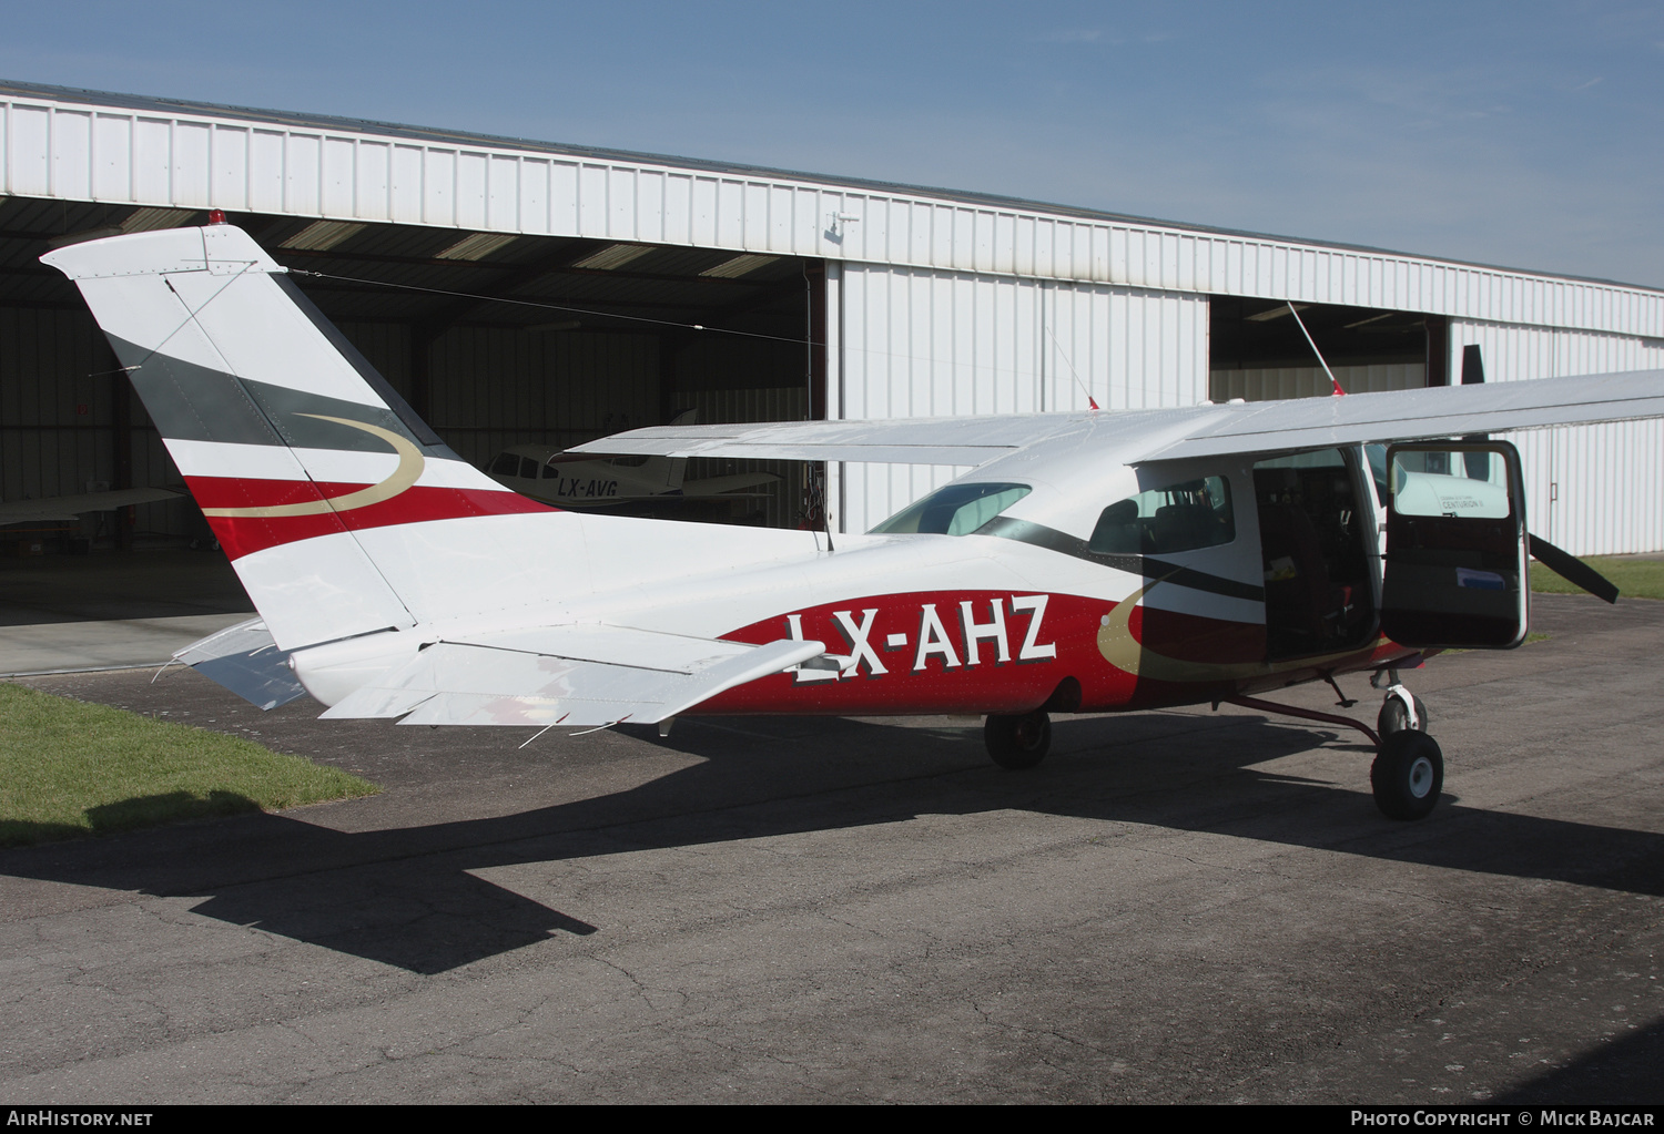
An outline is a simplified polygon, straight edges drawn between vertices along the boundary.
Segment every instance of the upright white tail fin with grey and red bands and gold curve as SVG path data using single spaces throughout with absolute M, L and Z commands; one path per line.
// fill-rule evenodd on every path
M 366 532 L 549 510 L 451 452 L 238 228 L 42 261 L 82 289 L 283 648 L 431 614 Z

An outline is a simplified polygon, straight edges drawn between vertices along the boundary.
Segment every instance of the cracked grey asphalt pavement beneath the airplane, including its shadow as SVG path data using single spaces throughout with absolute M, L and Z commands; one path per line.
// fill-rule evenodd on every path
M 1423 823 L 1354 733 L 1230 707 L 1062 717 L 1007 773 L 972 720 L 518 750 L 28 678 L 384 791 L 0 851 L 0 1094 L 1657 1102 L 1664 604 L 1539 595 L 1536 629 L 1408 678 Z

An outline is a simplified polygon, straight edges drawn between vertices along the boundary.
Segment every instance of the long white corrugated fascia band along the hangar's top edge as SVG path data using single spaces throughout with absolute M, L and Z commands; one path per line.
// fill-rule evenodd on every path
M 804 175 L 421 135 L 12 93 L 0 98 L 0 193 L 734 248 L 1664 338 L 1664 293 L 1646 288 Z

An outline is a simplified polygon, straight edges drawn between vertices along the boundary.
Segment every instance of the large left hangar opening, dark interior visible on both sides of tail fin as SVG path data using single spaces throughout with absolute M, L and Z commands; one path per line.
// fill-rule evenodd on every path
M 790 256 L 233 213 L 461 456 L 564 449 L 667 422 L 824 416 L 825 264 Z M 206 223 L 205 211 L 0 198 L 0 500 L 181 489 L 53 246 Z M 792 525 L 800 464 L 691 461 L 764 484 L 686 519 Z M 18 535 L 22 535 L 18 532 Z M 53 555 L 210 539 L 188 497 L 33 524 Z M 10 544 L 0 527 L 0 544 Z

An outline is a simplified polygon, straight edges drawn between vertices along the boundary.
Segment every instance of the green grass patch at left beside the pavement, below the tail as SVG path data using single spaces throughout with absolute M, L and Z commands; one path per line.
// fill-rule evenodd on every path
M 0 683 L 0 846 L 376 791 L 251 740 Z

